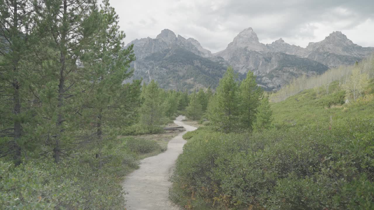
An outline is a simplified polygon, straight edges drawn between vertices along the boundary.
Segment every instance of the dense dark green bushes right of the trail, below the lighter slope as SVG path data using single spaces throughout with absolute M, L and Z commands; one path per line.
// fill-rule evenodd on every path
M 187 209 L 373 209 L 374 121 L 336 120 L 253 134 L 198 129 L 170 197 Z

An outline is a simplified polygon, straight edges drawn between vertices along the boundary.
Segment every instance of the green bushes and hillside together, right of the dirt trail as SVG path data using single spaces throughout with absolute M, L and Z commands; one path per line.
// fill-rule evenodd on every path
M 364 80 L 374 66 L 365 75 L 359 65 L 347 85 L 261 102 L 252 132 L 202 126 L 186 133 L 171 199 L 185 209 L 373 209 L 374 80 Z M 347 86 L 357 75 L 363 90 L 355 99 Z M 270 126 L 256 125 L 267 119 Z

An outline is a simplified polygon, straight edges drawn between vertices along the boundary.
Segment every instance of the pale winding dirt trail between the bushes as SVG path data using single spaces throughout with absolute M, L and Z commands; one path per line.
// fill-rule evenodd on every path
M 184 124 L 183 119 L 184 116 L 180 115 L 174 123 L 185 127 L 187 131 L 196 129 Z M 140 161 L 140 169 L 126 177 L 122 186 L 129 193 L 125 195 L 127 210 L 179 210 L 168 199 L 171 186 L 168 179 L 173 173 L 175 160 L 183 151 L 186 141 L 182 136 L 186 132 L 170 140 L 165 152 Z

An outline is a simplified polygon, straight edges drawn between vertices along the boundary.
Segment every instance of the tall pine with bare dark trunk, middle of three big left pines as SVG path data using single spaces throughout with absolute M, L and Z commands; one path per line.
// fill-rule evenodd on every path
M 95 0 L 43 0 L 39 13 L 41 41 L 52 49 L 43 58 L 41 71 L 47 82 L 39 93 L 43 102 L 39 115 L 44 116 L 44 136 L 58 163 L 73 151 L 67 147 L 79 136 L 82 123 L 87 123 L 80 112 L 91 72 L 81 62 L 86 59 L 83 54 L 91 52 L 101 20 Z

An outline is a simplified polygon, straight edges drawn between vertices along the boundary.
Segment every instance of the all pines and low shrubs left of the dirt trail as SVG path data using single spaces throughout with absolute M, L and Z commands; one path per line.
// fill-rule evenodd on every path
M 162 132 L 188 94 L 132 80 L 108 0 L 0 0 L 0 24 L 0 209 L 123 209 L 163 148 L 119 136 Z

